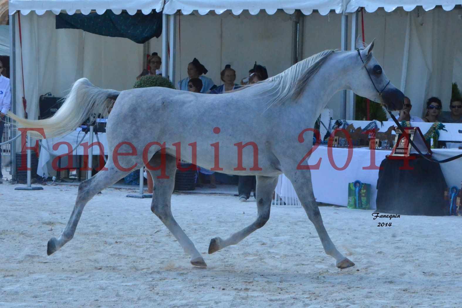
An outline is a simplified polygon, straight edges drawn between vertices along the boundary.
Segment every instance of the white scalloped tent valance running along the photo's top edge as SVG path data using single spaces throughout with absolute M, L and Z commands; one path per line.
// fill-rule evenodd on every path
M 231 10 L 235 15 L 239 15 L 243 10 L 249 10 L 250 14 L 255 15 L 261 11 L 267 14 L 274 14 L 278 9 L 292 14 L 295 10 L 300 10 L 305 15 L 309 15 L 313 10 L 317 10 L 321 15 L 327 15 L 331 10 L 336 13 L 355 12 L 359 7 L 365 7 L 367 12 L 375 12 L 379 7 L 383 7 L 386 12 L 391 12 L 397 7 L 402 7 L 405 11 L 412 11 L 416 6 L 422 6 L 424 10 L 432 10 L 435 6 L 442 6 L 444 10 L 450 11 L 456 5 L 461 5 L 462 0 L 10 0 L 9 14 L 17 11 L 26 15 L 30 11 L 35 11 L 37 15 L 42 15 L 46 11 L 59 14 L 66 11 L 72 15 L 77 10 L 82 14 L 89 14 L 96 10 L 98 14 L 103 14 L 106 10 L 112 10 L 115 14 L 120 14 L 126 10 L 130 15 L 134 15 L 137 10 L 144 14 L 149 14 L 152 10 L 156 12 L 164 11 L 166 14 L 174 14 L 181 10 L 183 14 L 190 14 L 197 10 L 201 15 L 210 11 L 221 14 L 226 10 Z

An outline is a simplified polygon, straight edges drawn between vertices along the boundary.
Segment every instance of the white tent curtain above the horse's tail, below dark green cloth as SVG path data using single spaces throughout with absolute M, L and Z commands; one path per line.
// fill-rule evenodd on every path
M 15 18 L 18 18 L 15 16 Z M 27 113 L 38 117 L 40 95 L 63 97 L 77 79 L 102 88 L 133 87 L 143 63 L 143 45 L 74 29 L 55 29 L 55 14 L 21 16 Z M 24 115 L 19 28 L 16 21 L 16 113 Z

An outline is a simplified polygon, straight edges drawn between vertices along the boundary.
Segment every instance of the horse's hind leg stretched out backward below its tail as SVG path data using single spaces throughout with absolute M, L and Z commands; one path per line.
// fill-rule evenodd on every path
M 90 199 L 98 192 L 113 185 L 116 181 L 119 181 L 122 177 L 130 173 L 130 171 L 125 172 L 118 170 L 109 160 L 105 167 L 108 169 L 107 171 L 101 170 L 89 180 L 83 181 L 79 184 L 79 192 L 77 194 L 77 199 L 75 200 L 71 217 L 67 222 L 66 228 L 64 228 L 58 239 L 53 237 L 48 241 L 48 255 L 53 254 L 56 250 L 63 247 L 64 244 L 73 238 L 80 216 L 82 215 L 82 211 L 84 210 L 87 202 L 90 201 Z

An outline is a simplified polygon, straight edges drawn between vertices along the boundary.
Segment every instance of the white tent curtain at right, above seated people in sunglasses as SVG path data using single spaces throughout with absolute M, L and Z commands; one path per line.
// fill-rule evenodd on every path
M 457 12 L 415 10 L 410 15 L 407 65 L 402 81 L 405 95 L 413 102 L 413 114 L 425 115 L 424 102 L 439 97 L 443 110 L 449 110 L 456 48 L 452 42 L 460 38 Z M 457 44 L 457 43 L 456 43 Z

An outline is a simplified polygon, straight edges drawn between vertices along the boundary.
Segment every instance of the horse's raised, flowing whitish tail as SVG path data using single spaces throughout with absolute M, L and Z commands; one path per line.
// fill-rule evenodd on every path
M 11 111 L 9 117 L 18 122 L 18 126 L 26 128 L 43 128 L 45 137 L 40 133 L 30 131 L 34 138 L 53 138 L 75 130 L 95 112 L 103 113 L 107 107 L 108 98 L 116 99 L 120 92 L 100 89 L 91 84 L 86 78 L 74 82 L 72 90 L 65 97 L 61 108 L 50 118 L 43 120 L 26 120 L 14 115 Z

